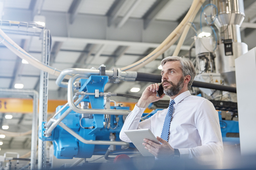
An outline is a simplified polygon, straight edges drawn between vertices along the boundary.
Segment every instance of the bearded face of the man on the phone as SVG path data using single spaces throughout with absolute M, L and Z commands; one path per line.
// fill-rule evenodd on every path
M 171 61 L 165 63 L 161 74 L 164 94 L 170 97 L 178 95 L 184 87 L 184 77 L 180 68 L 180 62 Z

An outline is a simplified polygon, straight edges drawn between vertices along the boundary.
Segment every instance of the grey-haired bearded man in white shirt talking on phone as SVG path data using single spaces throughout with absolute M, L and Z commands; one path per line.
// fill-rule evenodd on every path
M 124 133 L 125 130 L 150 129 L 162 145 L 147 139 L 144 139 L 143 145 L 157 158 L 178 156 L 198 158 L 206 162 L 215 161 L 216 159 L 209 159 L 212 156 L 220 159 L 223 155 L 223 145 L 218 112 L 209 100 L 191 96 L 189 92 L 196 74 L 193 63 L 185 57 L 170 56 L 164 58 L 161 65 L 164 93 L 171 97 L 170 109 L 158 111 L 140 122 L 145 108 L 163 98 L 156 96 L 158 84 L 150 84 L 127 116 L 120 132 L 120 139 L 131 142 Z M 167 117 L 170 118 L 170 114 L 171 121 L 168 121 Z M 167 137 L 164 137 L 163 129 L 166 127 Z M 160 137 L 167 139 L 163 140 Z

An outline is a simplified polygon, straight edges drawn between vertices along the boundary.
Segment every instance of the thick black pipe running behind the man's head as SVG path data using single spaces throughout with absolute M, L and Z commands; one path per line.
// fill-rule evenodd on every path
M 162 79 L 162 76 L 160 74 L 137 72 L 137 78 L 135 79 L 135 81 L 146 81 L 146 82 L 159 83 L 162 81 L 161 79 Z M 224 85 L 219 85 L 219 84 L 212 84 L 212 83 L 205 83 L 205 82 L 201 82 L 201 81 L 193 81 L 192 87 L 215 89 L 215 90 L 229 91 L 229 92 L 236 93 L 235 87 L 224 86 Z

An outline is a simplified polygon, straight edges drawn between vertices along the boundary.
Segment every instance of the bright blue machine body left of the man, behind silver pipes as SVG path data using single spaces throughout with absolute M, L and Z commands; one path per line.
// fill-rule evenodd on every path
M 81 79 L 81 88 L 79 91 L 94 93 L 95 89 L 103 92 L 105 84 L 108 82 L 107 76 L 92 75 L 89 79 Z M 95 98 L 94 95 L 88 95 L 83 100 L 89 102 L 94 109 L 104 108 L 103 96 Z M 58 106 L 58 112 L 63 106 Z M 59 118 L 69 107 L 63 109 L 55 118 Z M 111 109 L 127 109 L 129 107 L 111 106 Z M 83 116 L 83 117 L 82 117 Z M 105 126 L 110 122 L 109 128 Z M 105 155 L 109 145 L 90 145 L 77 140 L 73 135 L 62 129 L 59 125 L 52 131 L 51 137 L 45 137 L 43 132 L 44 123 L 39 128 L 39 138 L 44 141 L 53 141 L 54 156 L 58 159 L 90 158 L 92 155 Z M 123 126 L 123 115 L 109 115 L 108 120 L 101 114 L 79 114 L 71 111 L 62 123 L 66 124 L 71 130 L 81 135 L 86 140 L 104 140 L 109 141 L 110 136 L 115 135 L 115 141 L 120 141 L 119 132 Z M 131 146 L 134 147 L 134 146 Z M 121 146 L 116 146 L 114 152 L 124 151 Z M 125 151 L 132 151 L 126 149 Z

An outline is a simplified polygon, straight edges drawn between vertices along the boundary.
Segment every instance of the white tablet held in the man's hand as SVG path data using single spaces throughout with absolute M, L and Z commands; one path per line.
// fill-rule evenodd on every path
M 155 135 L 149 129 L 138 129 L 124 131 L 127 137 L 132 141 L 133 145 L 140 151 L 143 156 L 154 156 L 151 154 L 142 143 L 145 143 L 143 139 L 151 140 L 155 143 L 159 143 Z

